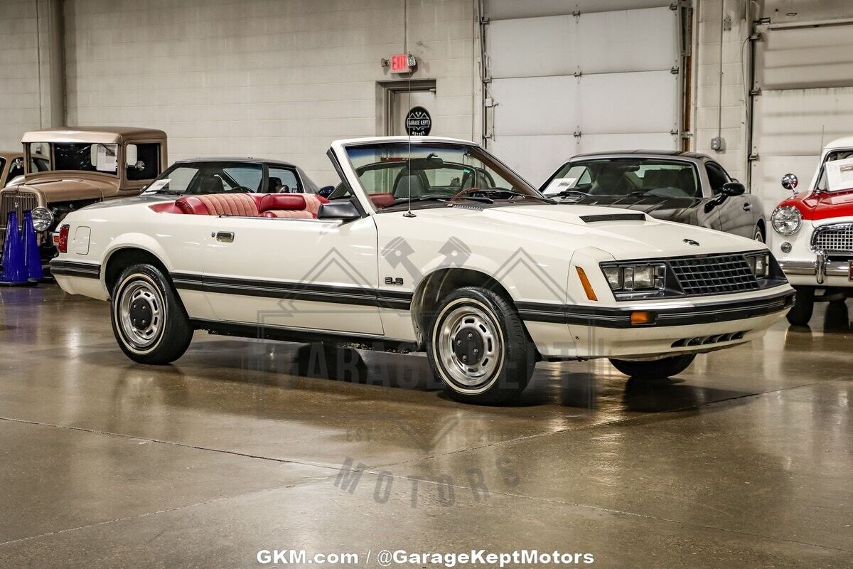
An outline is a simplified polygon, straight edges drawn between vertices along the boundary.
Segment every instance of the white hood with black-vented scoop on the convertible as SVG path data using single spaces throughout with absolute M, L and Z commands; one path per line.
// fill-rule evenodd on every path
M 453 233 L 489 230 L 498 239 L 522 235 L 537 247 L 597 247 L 617 259 L 734 253 L 764 246 L 737 235 L 599 206 L 442 207 L 418 210 Z M 586 220 L 584 220 L 586 218 Z M 699 243 L 693 245 L 692 242 Z

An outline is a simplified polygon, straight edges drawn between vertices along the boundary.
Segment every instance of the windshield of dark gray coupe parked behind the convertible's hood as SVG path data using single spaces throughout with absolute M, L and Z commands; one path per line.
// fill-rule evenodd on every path
M 548 180 L 543 194 L 693 198 L 700 197 L 702 192 L 697 170 L 690 162 L 606 158 L 567 162 Z

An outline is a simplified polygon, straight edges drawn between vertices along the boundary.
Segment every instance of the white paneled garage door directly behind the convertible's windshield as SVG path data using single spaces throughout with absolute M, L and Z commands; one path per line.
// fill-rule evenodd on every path
M 491 150 L 538 184 L 573 154 L 676 148 L 681 49 L 670 2 L 531 4 L 486 4 Z

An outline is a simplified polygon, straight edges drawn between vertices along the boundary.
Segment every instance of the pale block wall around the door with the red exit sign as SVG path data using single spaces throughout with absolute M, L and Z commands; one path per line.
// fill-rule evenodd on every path
M 67 0 L 67 121 L 149 125 L 170 160 L 293 160 L 332 181 L 329 142 L 374 136 L 380 59 L 403 0 Z M 414 78 L 437 81 L 433 134 L 479 136 L 471 0 L 409 0 Z M 479 48 L 477 49 L 479 55 Z

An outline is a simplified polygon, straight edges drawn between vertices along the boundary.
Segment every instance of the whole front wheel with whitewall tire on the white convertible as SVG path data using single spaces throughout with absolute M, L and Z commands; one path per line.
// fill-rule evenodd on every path
M 519 398 L 536 357 L 508 299 L 481 287 L 459 288 L 438 303 L 429 322 L 427 359 L 450 398 L 483 405 Z

